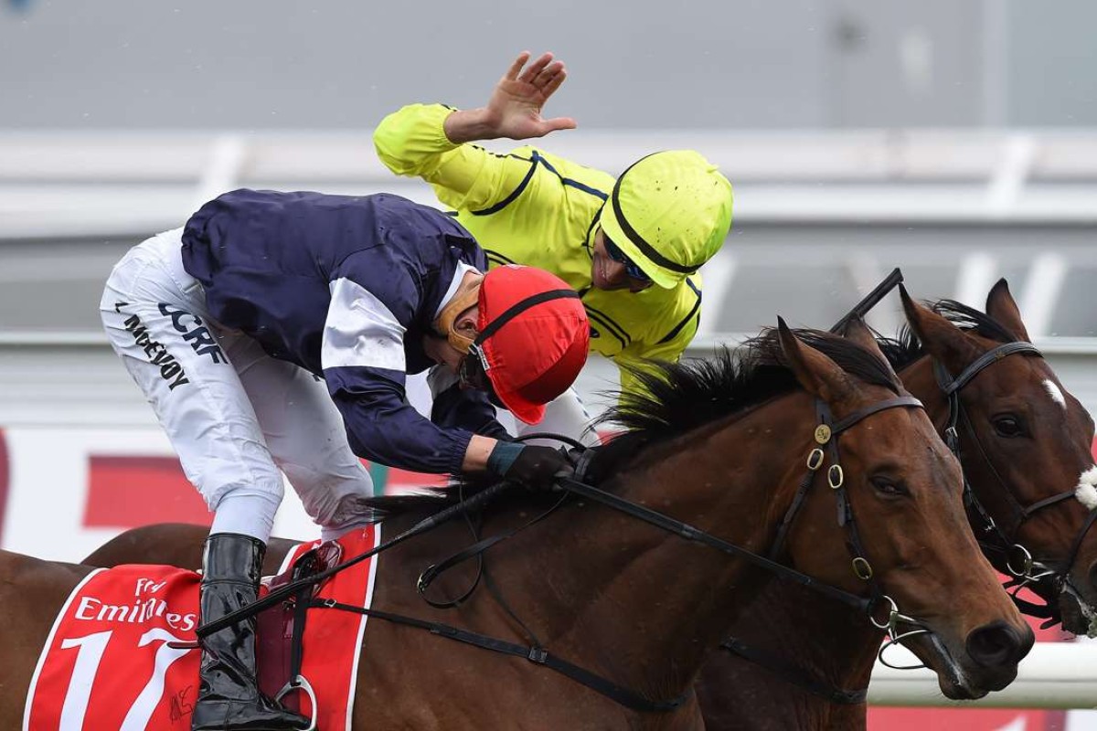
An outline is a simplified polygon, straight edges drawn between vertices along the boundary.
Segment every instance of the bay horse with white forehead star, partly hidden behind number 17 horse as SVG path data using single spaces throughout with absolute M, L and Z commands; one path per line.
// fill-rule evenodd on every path
M 912 332 L 891 343 L 889 359 L 938 433 L 955 430 L 974 495 L 969 516 L 987 558 L 1004 574 L 1038 576 L 1028 586 L 1048 607 L 1024 608 L 1086 633 L 1097 616 L 1093 420 L 1047 361 L 1024 347 L 1028 332 L 1004 279 L 985 313 L 950 301 L 926 308 L 902 294 Z M 953 390 L 958 412 L 940 384 L 969 373 Z M 732 635 L 735 651 L 714 653 L 698 682 L 710 731 L 866 728 L 880 630 L 812 592 L 771 582 Z

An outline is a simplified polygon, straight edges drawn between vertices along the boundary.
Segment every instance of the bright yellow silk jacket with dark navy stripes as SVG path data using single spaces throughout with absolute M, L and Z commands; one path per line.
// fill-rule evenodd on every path
M 472 144 L 455 145 L 442 129 L 452 111 L 411 104 L 389 114 L 373 135 L 382 162 L 399 175 L 430 183 L 487 252 L 490 265 L 538 266 L 575 287 L 590 318 L 591 351 L 619 367 L 644 368 L 646 358 L 677 361 L 701 316 L 700 274 L 672 289 L 651 286 L 631 293 L 591 286 L 598 216 L 613 176 L 535 147 L 497 155 Z M 636 386 L 622 367 L 622 390 Z

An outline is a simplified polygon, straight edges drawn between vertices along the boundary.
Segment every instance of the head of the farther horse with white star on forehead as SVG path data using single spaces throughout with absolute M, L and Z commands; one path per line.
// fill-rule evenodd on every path
M 964 454 L 972 527 L 994 566 L 1047 603 L 1075 633 L 1097 629 L 1094 422 L 1031 345 L 1005 279 L 986 315 L 925 307 L 904 290 L 915 335 L 951 385 L 947 438 Z M 940 310 L 940 311 L 935 311 Z M 1010 357 L 1006 357 L 1010 356 Z M 946 390 L 948 390 L 946 388 Z

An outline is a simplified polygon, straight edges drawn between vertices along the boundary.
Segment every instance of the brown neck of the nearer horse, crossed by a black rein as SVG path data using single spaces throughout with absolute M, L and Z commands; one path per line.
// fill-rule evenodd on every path
M 649 447 L 645 466 L 619 478 L 617 492 L 765 553 L 802 475 L 813 413 L 810 397 L 798 393 Z M 798 433 L 804 438 L 789 438 Z M 738 607 L 770 578 L 600 506 L 575 507 L 559 523 L 527 564 L 538 567 L 541 587 L 529 591 L 543 597 L 552 586 L 567 597 L 552 608 L 541 602 L 539 614 L 556 617 L 550 647 L 653 698 L 689 688 Z

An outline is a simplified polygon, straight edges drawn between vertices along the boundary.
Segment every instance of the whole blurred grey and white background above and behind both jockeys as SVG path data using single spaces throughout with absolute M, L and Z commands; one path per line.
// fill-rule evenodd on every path
M 484 103 L 522 49 L 569 70 L 546 113 L 579 129 L 546 149 L 619 172 L 692 147 L 734 183 L 697 352 L 777 313 L 825 327 L 901 265 L 916 296 L 973 305 L 1008 277 L 1030 332 L 1088 374 L 1094 27 L 1088 0 L 0 0 L 0 368 L 22 364 L 0 370 L 0 423 L 3 393 L 22 403 L 70 349 L 123 384 L 102 282 L 210 197 L 432 203 L 380 165 L 372 127 L 414 101 Z M 871 321 L 894 331 L 895 300 Z

